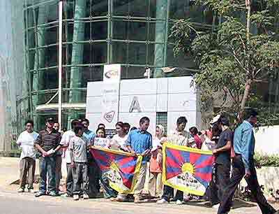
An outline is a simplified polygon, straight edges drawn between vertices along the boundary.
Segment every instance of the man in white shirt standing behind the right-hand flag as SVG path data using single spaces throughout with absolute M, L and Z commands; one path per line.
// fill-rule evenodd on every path
M 174 131 L 171 131 L 170 134 L 167 135 L 167 142 L 172 143 L 174 145 L 185 145 L 185 146 L 193 146 L 195 145 L 195 139 L 188 133 L 188 131 L 185 131 L 185 127 L 187 124 L 186 117 L 179 117 L 176 122 L 176 129 Z M 158 204 L 165 204 L 169 203 L 169 199 L 172 195 L 173 188 L 169 187 L 167 185 L 164 185 L 164 193 L 162 199 L 157 201 Z M 188 201 L 189 197 L 185 197 L 185 199 Z M 174 201 L 176 201 L 177 205 L 183 204 L 183 192 L 180 190 L 176 191 L 176 196 L 174 197 Z

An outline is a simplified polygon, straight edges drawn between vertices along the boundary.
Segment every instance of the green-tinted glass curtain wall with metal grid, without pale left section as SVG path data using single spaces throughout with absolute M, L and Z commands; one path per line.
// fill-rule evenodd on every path
M 58 0 L 24 0 L 25 53 L 31 112 L 42 128 L 47 115 L 57 117 Z M 121 64 L 121 78 L 186 76 L 197 71 L 193 57 L 174 57 L 169 30 L 176 19 L 189 18 L 200 29 L 220 22 L 195 0 L 63 1 L 63 103 L 85 104 L 89 81 L 103 80 L 104 64 Z M 165 74 L 162 67 L 175 66 Z M 47 110 L 48 109 L 48 110 Z M 63 125 L 84 117 L 84 108 L 63 110 Z

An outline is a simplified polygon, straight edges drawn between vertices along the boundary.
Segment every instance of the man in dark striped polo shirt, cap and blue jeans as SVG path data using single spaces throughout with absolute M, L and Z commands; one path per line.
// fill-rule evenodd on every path
M 61 148 L 61 136 L 54 128 L 54 120 L 52 117 L 45 121 L 45 130 L 39 132 L 34 145 L 42 155 L 40 157 L 40 187 L 39 192 L 35 197 L 40 197 L 50 192 L 50 196 L 56 196 L 56 182 L 55 182 L 55 153 Z M 47 183 L 48 176 L 48 185 Z

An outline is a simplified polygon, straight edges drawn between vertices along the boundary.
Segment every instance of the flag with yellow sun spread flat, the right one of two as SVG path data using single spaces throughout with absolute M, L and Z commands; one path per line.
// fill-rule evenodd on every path
M 211 151 L 165 143 L 163 183 L 183 192 L 203 196 L 211 181 L 213 162 Z

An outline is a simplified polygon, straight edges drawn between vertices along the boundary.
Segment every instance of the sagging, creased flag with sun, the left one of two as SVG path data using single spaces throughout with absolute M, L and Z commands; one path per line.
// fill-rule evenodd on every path
M 102 177 L 110 180 L 110 187 L 122 194 L 133 194 L 137 176 L 142 165 L 142 156 L 133 156 L 128 152 L 91 147 Z

